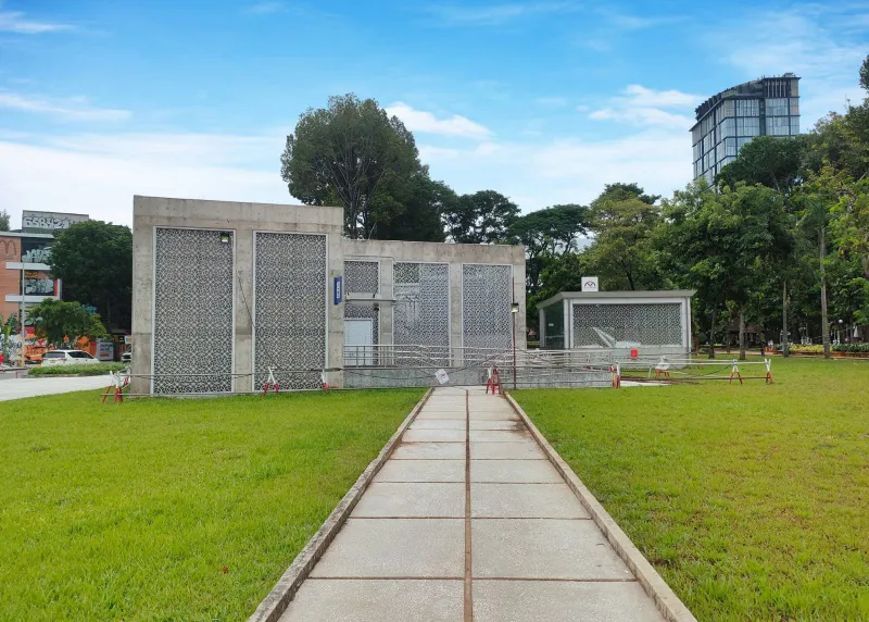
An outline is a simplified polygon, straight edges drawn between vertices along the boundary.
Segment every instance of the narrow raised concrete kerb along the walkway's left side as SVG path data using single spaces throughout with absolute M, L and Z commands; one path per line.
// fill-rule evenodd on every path
M 368 468 L 363 471 L 360 478 L 356 480 L 356 483 L 353 484 L 350 490 L 347 492 L 347 495 L 344 495 L 341 501 L 335 507 L 332 513 L 329 514 L 329 518 L 326 519 L 317 533 L 307 540 L 305 548 L 295 556 L 290 568 L 288 568 L 287 572 L 278 580 L 277 585 L 275 585 L 272 592 L 268 593 L 268 596 L 263 599 L 260 607 L 253 612 L 253 615 L 248 619 L 248 622 L 277 622 L 284 614 L 284 611 L 286 611 L 287 607 L 290 605 L 290 601 L 293 596 L 295 596 L 302 582 L 307 579 L 314 565 L 319 561 L 319 558 L 323 557 L 323 553 L 326 552 L 326 549 L 335 539 L 335 536 L 341 531 L 341 527 L 347 522 L 353 508 L 356 507 L 360 498 L 362 498 L 362 495 L 365 493 L 366 488 L 368 488 L 368 484 L 371 483 L 374 476 L 377 475 L 377 472 L 380 471 L 380 468 L 392 455 L 392 450 L 428 401 L 432 390 L 433 389 L 428 389 L 426 391 L 426 395 L 417 402 L 411 411 L 411 414 L 405 418 L 395 433 L 387 440 L 387 444 L 383 445 L 377 458 L 371 460 Z

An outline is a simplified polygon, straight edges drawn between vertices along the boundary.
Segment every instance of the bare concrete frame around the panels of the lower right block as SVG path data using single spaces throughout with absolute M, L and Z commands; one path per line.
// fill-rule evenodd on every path
M 417 261 L 450 264 L 450 343 L 462 347 L 462 265 L 465 263 L 506 264 L 513 266 L 516 313 L 516 349 L 526 348 L 525 326 L 525 247 L 428 241 L 344 240 L 344 259 L 380 261 L 380 297 L 393 297 L 392 264 Z M 380 343 L 392 344 L 392 312 L 380 313 Z

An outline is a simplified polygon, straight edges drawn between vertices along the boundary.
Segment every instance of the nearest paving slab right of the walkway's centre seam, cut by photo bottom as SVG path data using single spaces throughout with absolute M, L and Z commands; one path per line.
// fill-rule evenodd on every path
M 474 582 L 475 622 L 660 622 L 654 601 L 637 582 Z

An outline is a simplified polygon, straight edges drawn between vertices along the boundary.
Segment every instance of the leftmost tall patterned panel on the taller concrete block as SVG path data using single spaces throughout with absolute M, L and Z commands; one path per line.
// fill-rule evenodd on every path
M 235 247 L 221 232 L 158 228 L 154 393 L 231 391 Z M 179 377 L 173 374 L 215 374 Z

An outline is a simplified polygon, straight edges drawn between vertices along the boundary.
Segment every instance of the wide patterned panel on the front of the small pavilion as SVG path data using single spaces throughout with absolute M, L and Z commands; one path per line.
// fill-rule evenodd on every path
M 574 303 L 574 347 L 612 347 L 594 331 L 605 333 L 622 345 L 685 346 L 682 306 L 660 304 L 577 304 Z

